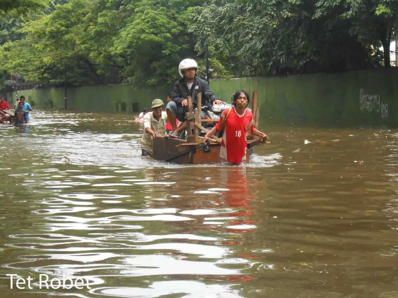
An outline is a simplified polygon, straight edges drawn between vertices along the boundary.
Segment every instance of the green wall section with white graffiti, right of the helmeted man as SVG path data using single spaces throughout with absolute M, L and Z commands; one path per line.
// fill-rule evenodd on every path
M 262 119 L 398 125 L 398 69 L 216 79 L 210 85 L 228 102 L 238 89 L 257 90 Z

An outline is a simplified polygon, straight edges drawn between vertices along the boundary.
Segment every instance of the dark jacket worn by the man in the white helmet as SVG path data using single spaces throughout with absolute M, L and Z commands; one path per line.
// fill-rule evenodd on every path
M 209 85 L 207 85 L 207 82 L 205 80 L 195 77 L 191 90 L 188 90 L 188 86 L 187 83 L 185 82 L 185 79 L 181 78 L 178 81 L 176 81 L 176 83 L 174 83 L 174 91 L 172 96 L 173 101 L 177 103 L 178 109 L 181 106 L 181 101 L 183 99 L 187 99 L 188 96 L 192 97 L 194 91 L 195 91 L 194 97 L 192 98 L 193 108 L 197 107 L 197 99 L 199 93 L 202 93 L 202 106 L 206 105 L 211 106 L 213 104 L 213 101 L 219 99 L 210 90 Z

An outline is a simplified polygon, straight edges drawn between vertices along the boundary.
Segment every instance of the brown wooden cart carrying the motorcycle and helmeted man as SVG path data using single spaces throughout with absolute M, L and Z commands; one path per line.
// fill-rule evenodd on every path
M 252 113 L 254 116 L 254 124 L 258 126 L 259 108 L 257 108 L 258 92 L 254 91 L 252 96 Z M 203 137 L 199 136 L 200 132 L 207 132 L 202 126 L 203 122 L 218 122 L 215 119 L 201 119 L 201 93 L 198 94 L 198 106 L 193 110 L 191 97 L 187 98 L 188 112 L 185 114 L 187 122 L 187 139 L 174 139 L 162 136 L 156 136 L 153 141 L 153 158 L 159 161 L 170 161 L 177 164 L 208 164 L 218 163 L 220 157 L 221 139 L 213 137 L 209 143 L 210 152 L 203 150 Z M 248 139 L 248 147 L 258 145 L 250 135 Z M 246 161 L 249 161 L 250 150 L 246 153 Z

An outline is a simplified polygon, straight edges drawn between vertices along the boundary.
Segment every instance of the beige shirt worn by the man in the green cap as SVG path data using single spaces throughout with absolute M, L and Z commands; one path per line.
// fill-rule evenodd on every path
M 148 134 L 145 131 L 145 128 L 149 127 L 154 132 L 157 132 L 159 135 L 166 134 L 166 124 L 168 122 L 167 113 L 162 112 L 159 121 L 157 121 L 153 112 L 146 113 L 144 116 L 144 133 L 141 138 L 141 149 L 144 149 L 153 155 L 153 138 L 152 135 Z

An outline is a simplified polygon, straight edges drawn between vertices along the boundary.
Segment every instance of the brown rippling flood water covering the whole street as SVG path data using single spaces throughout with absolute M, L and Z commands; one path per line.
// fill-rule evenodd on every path
M 259 128 L 241 168 L 144 159 L 133 115 L 0 124 L 0 296 L 398 297 L 398 130 Z

